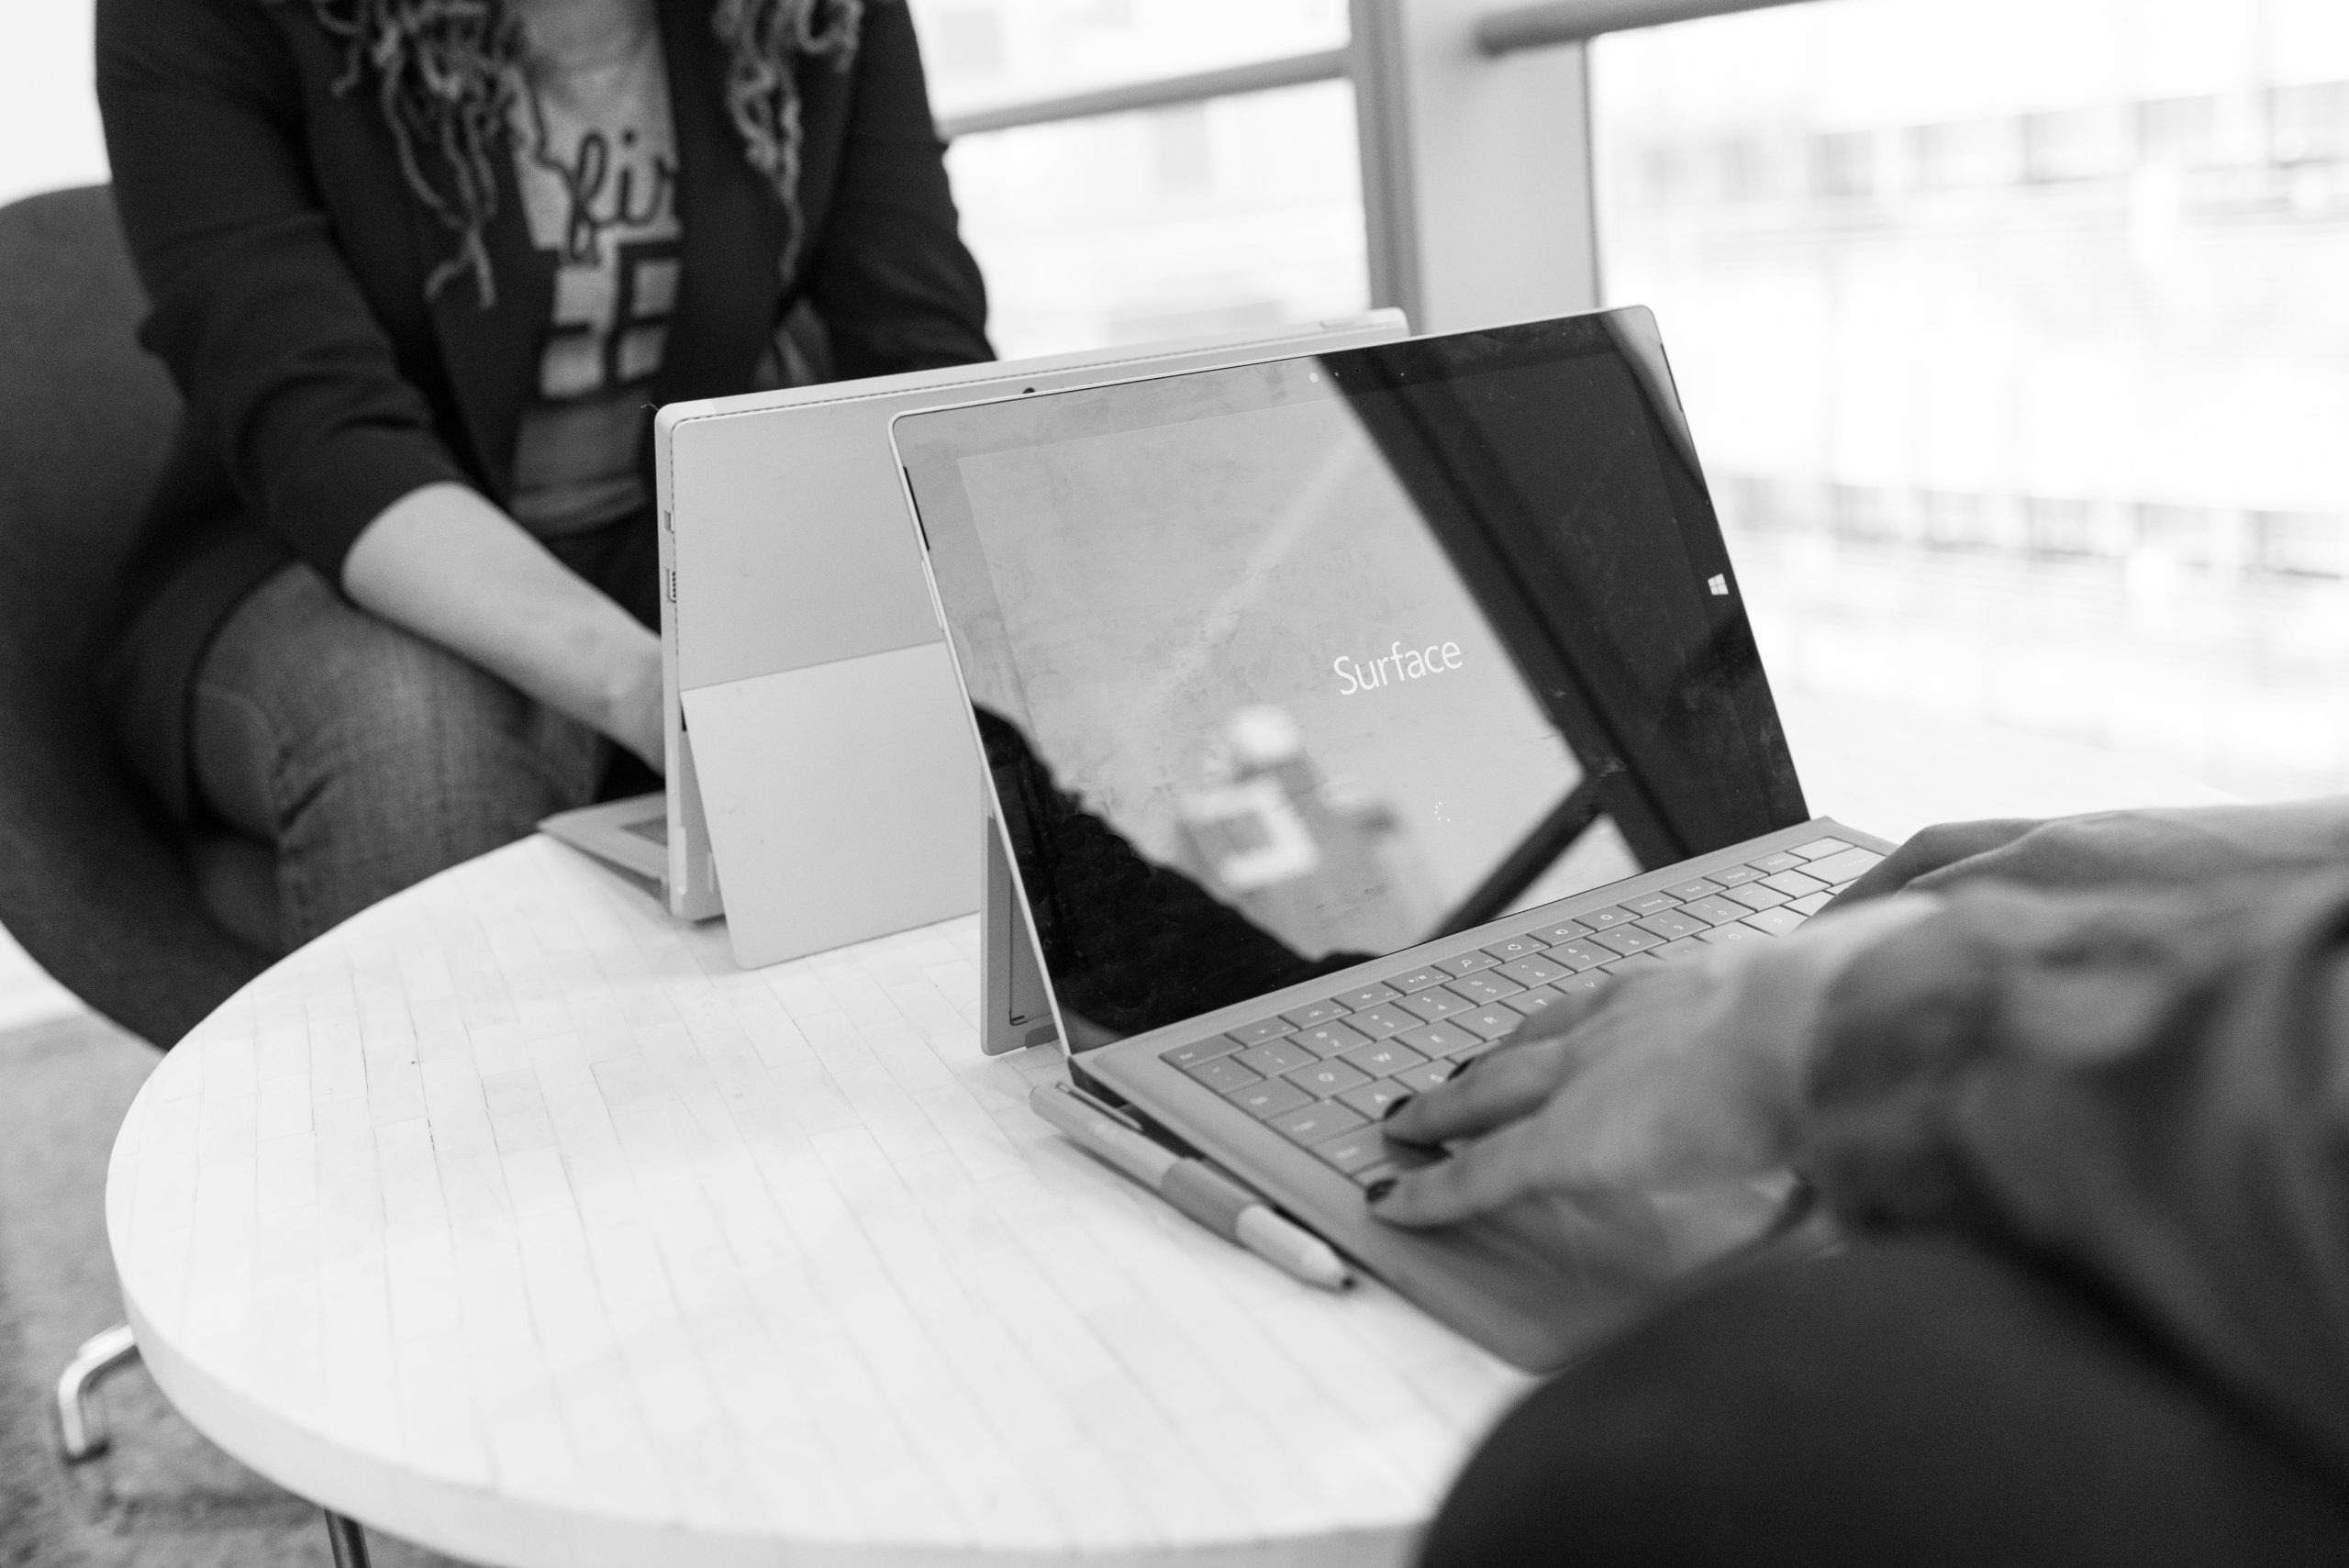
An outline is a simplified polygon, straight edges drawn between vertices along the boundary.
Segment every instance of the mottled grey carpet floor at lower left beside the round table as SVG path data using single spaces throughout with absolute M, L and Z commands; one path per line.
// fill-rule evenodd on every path
M 214 1448 L 146 1368 L 106 1383 L 108 1453 L 68 1467 L 49 1397 L 122 1322 L 106 1157 L 155 1052 L 94 1016 L 0 1035 L 0 1568 L 329 1563 L 319 1512 Z M 378 1568 L 453 1568 L 369 1535 Z

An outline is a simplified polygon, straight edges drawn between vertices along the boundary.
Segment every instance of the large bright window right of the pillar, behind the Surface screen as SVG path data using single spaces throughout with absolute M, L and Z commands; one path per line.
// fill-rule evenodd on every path
M 2349 7 L 1820 0 L 1593 103 L 1781 688 L 2349 789 Z

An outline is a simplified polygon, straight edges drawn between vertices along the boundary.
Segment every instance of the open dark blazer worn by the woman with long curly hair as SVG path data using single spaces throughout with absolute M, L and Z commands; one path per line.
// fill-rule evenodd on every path
M 848 73 L 799 70 L 808 232 L 789 279 L 782 202 L 726 115 L 712 0 L 658 7 L 684 277 L 653 401 L 752 390 L 799 298 L 839 376 L 989 359 L 902 0 L 867 5 Z M 188 404 L 101 683 L 132 765 L 186 819 L 188 683 L 254 584 L 296 554 L 341 584 L 359 530 L 423 484 L 512 495 L 554 258 L 498 160 L 496 303 L 470 275 L 425 300 L 456 235 L 409 192 L 373 80 L 331 92 L 343 45 L 308 0 L 99 0 L 96 52 L 115 202 L 153 305 L 141 343 Z M 651 418 L 644 432 L 648 465 Z

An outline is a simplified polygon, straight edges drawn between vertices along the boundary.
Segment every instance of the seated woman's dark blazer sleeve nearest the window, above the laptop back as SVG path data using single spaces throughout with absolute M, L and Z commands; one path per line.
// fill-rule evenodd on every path
M 864 7 L 855 73 L 841 176 L 808 270 L 834 373 L 846 380 L 994 359 L 987 284 L 956 232 L 944 146 L 902 0 Z

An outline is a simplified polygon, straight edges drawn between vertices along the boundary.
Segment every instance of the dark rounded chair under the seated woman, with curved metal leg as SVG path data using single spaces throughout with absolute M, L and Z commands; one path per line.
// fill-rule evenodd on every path
M 0 209 L 0 925 L 68 991 L 169 1047 L 268 955 L 209 913 L 218 854 L 115 761 L 89 664 L 179 397 L 103 185 Z M 218 897 L 218 894 L 214 894 Z M 82 1345 L 59 1383 L 66 1455 L 106 1446 L 89 1392 L 136 1354 Z

